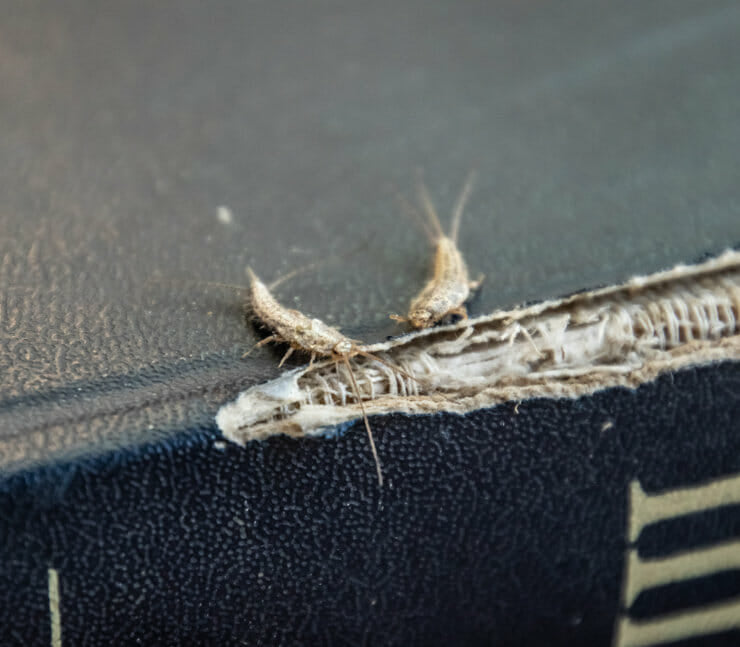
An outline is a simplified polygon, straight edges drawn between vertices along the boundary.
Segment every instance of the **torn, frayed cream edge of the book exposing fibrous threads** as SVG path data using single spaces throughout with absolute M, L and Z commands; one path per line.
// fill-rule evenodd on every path
M 740 251 L 730 250 L 369 347 L 415 379 L 362 357 L 352 370 L 368 415 L 464 414 L 506 401 L 634 388 L 664 372 L 739 360 L 739 322 Z M 328 359 L 244 391 L 216 421 L 226 438 L 243 444 L 275 434 L 326 435 L 361 416 L 346 368 Z

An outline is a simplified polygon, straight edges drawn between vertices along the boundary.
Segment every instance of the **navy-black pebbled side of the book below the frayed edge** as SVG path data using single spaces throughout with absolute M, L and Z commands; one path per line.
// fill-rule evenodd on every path
M 0 627 L 48 644 L 54 566 L 66 644 L 607 645 L 629 481 L 737 473 L 738 416 L 740 365 L 725 363 L 518 414 L 374 418 L 383 490 L 361 424 L 223 449 L 191 430 L 18 474 L 0 499 Z M 687 549 L 739 525 L 731 508 L 672 535 Z M 651 591 L 637 613 L 738 585 Z M 718 640 L 703 644 L 740 634 Z

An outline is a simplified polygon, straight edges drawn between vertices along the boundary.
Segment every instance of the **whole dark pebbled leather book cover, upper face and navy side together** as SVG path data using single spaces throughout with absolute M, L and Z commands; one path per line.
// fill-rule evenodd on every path
M 167 281 L 336 256 L 280 298 L 397 334 L 429 265 L 394 200 L 419 165 L 442 214 L 478 170 L 478 314 L 736 244 L 737 4 L 5 9 L 2 643 L 53 644 L 53 569 L 70 645 L 609 644 L 634 483 L 740 472 L 737 364 L 374 418 L 381 491 L 361 425 L 221 444 L 218 405 L 280 351 L 242 359 L 238 293 Z M 738 505 L 649 524 L 639 555 L 732 541 Z M 629 618 L 732 600 L 715 570 Z

